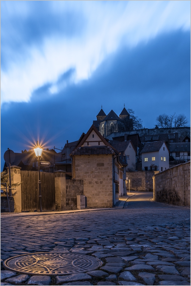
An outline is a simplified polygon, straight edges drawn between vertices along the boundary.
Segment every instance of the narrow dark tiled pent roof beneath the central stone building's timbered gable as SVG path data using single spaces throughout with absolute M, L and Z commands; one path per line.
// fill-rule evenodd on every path
M 71 155 L 102 155 L 102 154 L 114 154 L 115 152 L 109 146 L 83 146 L 74 150 Z

